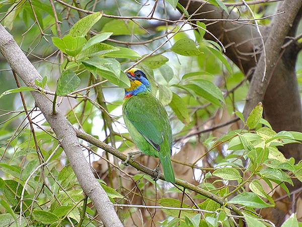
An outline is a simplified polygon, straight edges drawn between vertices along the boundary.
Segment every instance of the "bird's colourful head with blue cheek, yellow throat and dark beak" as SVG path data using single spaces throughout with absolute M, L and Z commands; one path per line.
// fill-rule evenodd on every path
M 150 83 L 141 70 L 132 68 L 127 72 L 127 76 L 130 80 L 130 87 L 125 89 L 125 98 L 140 92 L 151 91 Z

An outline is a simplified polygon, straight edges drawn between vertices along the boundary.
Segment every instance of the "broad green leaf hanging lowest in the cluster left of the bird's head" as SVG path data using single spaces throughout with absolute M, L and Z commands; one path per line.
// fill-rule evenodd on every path
M 64 71 L 58 79 L 56 93 L 59 96 L 64 96 L 79 87 L 81 83 L 77 74 L 71 70 Z

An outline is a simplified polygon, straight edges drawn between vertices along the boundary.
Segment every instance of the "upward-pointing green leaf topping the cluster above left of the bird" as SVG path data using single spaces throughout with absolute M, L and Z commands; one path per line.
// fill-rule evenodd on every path
M 82 18 L 72 26 L 68 34 L 73 37 L 85 36 L 92 28 L 92 26 L 94 26 L 95 23 L 97 23 L 101 19 L 101 17 L 101 12 L 97 12 Z

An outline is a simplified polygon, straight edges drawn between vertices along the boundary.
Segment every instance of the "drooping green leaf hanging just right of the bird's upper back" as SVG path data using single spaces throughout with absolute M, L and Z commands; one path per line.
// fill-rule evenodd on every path
M 186 107 L 186 103 L 180 96 L 173 92 L 172 100 L 169 105 L 182 123 L 185 125 L 189 123 L 189 111 Z

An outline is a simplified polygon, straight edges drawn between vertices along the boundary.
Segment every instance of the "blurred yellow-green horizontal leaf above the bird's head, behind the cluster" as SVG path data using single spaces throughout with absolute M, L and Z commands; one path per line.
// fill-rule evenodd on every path
M 145 34 L 145 30 L 140 28 L 136 23 L 131 20 L 118 20 L 113 19 L 106 23 L 102 32 L 112 32 L 113 35 L 131 35 L 131 34 Z

